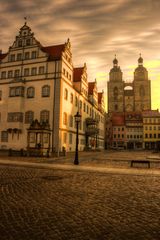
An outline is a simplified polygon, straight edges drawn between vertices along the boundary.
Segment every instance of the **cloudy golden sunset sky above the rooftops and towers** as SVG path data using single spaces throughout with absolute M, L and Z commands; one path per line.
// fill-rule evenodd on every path
M 27 25 L 44 46 L 69 38 L 74 67 L 87 64 L 88 81 L 105 92 L 116 54 L 124 81 L 133 80 L 142 54 L 151 80 L 152 109 L 160 109 L 159 0 L 0 0 L 0 49 L 8 51 Z

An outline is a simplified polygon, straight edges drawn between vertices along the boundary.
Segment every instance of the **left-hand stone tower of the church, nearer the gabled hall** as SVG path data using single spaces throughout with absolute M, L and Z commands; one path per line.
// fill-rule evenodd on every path
M 108 88 L 108 113 L 124 111 L 124 81 L 122 71 L 118 66 L 115 56 L 113 68 L 109 73 Z

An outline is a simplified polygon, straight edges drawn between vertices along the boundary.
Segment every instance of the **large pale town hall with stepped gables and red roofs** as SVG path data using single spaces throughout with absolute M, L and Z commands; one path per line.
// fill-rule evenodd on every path
M 103 95 L 86 64 L 74 67 L 69 39 L 44 47 L 25 23 L 0 53 L 0 148 L 75 151 L 77 111 L 79 150 L 104 148 Z

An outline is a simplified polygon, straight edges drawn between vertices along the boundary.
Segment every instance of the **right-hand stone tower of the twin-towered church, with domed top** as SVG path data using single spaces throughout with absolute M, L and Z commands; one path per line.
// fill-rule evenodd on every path
M 151 109 L 151 87 L 148 80 L 148 71 L 143 67 L 143 58 L 138 59 L 138 67 L 134 72 L 134 108 L 135 111 L 143 111 Z

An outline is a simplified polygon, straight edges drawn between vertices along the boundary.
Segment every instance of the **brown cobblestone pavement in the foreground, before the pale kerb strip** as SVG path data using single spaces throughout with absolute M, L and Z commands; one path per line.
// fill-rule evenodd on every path
M 159 240 L 159 203 L 160 175 L 0 165 L 1 240 Z

